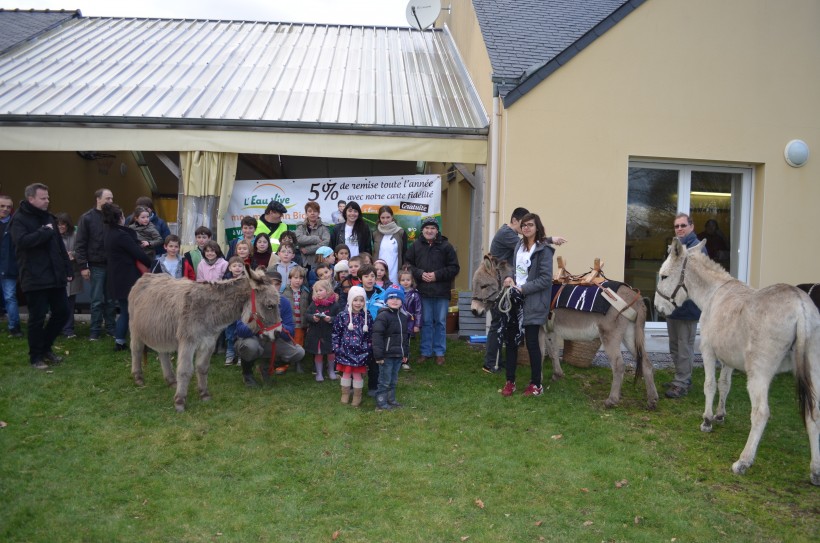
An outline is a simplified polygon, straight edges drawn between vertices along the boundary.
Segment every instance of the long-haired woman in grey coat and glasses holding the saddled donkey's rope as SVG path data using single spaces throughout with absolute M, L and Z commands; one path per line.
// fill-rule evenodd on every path
M 528 213 L 521 218 L 521 232 L 524 237 L 515 247 L 513 276 L 504 279 L 505 286 L 517 289 L 524 297 L 524 341 L 530 354 L 530 384 L 524 396 L 540 396 L 544 392 L 541 385 L 541 363 L 543 353 L 538 343 L 538 333 L 549 316 L 552 295 L 552 257 L 554 250 L 548 243 L 541 218 Z M 501 390 L 504 396 L 515 392 L 516 357 L 507 358 L 507 383 Z

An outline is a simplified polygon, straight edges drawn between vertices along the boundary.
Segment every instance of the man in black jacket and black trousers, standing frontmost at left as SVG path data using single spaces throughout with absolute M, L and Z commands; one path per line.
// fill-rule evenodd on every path
M 74 277 L 57 218 L 48 212 L 48 187 L 34 183 L 26 187 L 25 196 L 11 220 L 11 240 L 17 251 L 20 286 L 28 300 L 29 358 L 32 367 L 44 370 L 47 362 L 62 361 L 51 346 L 68 320 L 66 284 Z

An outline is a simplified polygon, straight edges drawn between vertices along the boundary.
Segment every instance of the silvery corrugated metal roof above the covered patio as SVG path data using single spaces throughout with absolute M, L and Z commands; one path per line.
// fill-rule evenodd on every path
M 0 123 L 486 134 L 449 34 L 81 18 L 0 56 Z

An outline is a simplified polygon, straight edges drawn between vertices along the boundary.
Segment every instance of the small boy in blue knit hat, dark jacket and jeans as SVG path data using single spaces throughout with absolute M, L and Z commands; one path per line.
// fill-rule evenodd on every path
M 379 311 L 373 322 L 373 357 L 379 366 L 379 388 L 376 391 L 376 411 L 401 407 L 396 401 L 399 369 L 410 355 L 407 333 L 407 313 L 402 310 L 404 291 L 391 285 L 385 291 L 387 307 Z

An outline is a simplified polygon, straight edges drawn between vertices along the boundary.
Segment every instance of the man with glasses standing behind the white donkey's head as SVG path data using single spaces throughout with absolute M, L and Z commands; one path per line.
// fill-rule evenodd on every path
M 675 236 L 684 247 L 694 247 L 700 240 L 695 234 L 692 218 L 686 213 L 678 213 L 674 222 Z M 706 253 L 705 250 L 703 250 Z M 700 319 L 700 309 L 692 300 L 686 300 L 666 317 L 669 332 L 669 354 L 675 363 L 675 378 L 666 387 L 666 397 L 678 399 L 689 393 L 692 386 L 692 362 L 695 358 L 695 333 Z

